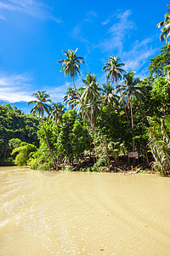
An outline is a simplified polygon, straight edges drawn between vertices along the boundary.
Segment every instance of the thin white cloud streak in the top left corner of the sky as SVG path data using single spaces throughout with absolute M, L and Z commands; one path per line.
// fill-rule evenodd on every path
M 32 15 L 39 19 L 50 19 L 57 23 L 62 23 L 61 20 L 49 13 L 47 6 L 37 0 L 2 0 L 0 1 L 0 10 L 22 12 L 26 15 Z M 1 16 L 0 19 L 2 19 Z

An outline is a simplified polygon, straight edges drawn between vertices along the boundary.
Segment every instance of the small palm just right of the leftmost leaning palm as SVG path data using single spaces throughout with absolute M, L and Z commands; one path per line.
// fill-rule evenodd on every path
M 52 116 L 55 120 L 55 123 L 57 125 L 57 137 L 59 136 L 59 121 L 62 120 L 62 115 L 64 113 L 64 106 L 59 103 L 52 102 L 52 108 L 49 113 L 49 116 Z

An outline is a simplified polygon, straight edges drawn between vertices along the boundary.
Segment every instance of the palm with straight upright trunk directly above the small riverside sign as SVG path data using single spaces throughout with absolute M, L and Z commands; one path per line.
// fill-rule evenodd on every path
M 142 90 L 141 87 L 136 86 L 139 84 L 141 79 L 134 79 L 133 75 L 135 72 L 129 72 L 124 75 L 124 81 L 121 86 L 122 92 L 122 98 L 127 99 L 127 108 L 130 108 L 131 113 L 131 125 L 132 125 L 132 133 L 133 133 L 133 106 L 132 106 L 132 96 L 135 96 L 138 99 L 142 98 L 142 94 L 140 91 Z M 134 135 L 133 135 L 133 151 L 134 151 L 135 145 L 134 145 Z

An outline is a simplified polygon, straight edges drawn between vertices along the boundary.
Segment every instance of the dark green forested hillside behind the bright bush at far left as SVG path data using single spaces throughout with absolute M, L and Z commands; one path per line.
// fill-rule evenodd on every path
M 0 165 L 13 164 L 10 153 L 17 146 L 17 139 L 18 143 L 22 141 L 39 145 L 38 125 L 38 118 L 24 114 L 9 104 L 0 104 Z

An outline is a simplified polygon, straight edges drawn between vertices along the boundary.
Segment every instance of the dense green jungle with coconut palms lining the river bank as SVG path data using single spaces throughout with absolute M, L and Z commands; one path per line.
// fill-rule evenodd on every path
M 125 72 L 116 55 L 103 71 L 105 84 L 87 73 L 77 88 L 83 57 L 77 49 L 64 50 L 61 72 L 70 75 L 73 88 L 63 103 L 51 102 L 46 91 L 34 93 L 31 114 L 9 104 L 0 105 L 0 163 L 33 169 L 108 172 L 132 165 L 170 174 L 170 7 L 161 27 L 166 45 L 150 59 L 149 76 L 140 79 Z M 129 163 L 129 152 L 139 160 Z

